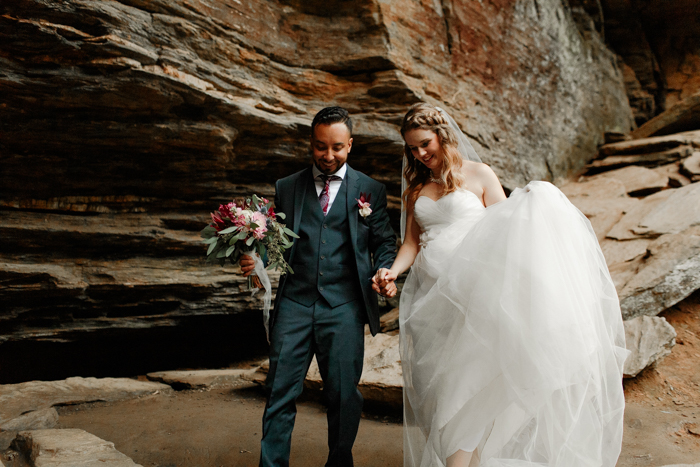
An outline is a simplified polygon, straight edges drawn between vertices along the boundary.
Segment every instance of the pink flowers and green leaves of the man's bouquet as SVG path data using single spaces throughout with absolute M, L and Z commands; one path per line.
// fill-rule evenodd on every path
M 275 214 L 272 203 L 256 195 L 220 205 L 211 213 L 212 223 L 202 230 L 204 243 L 209 245 L 207 261 L 223 266 L 226 258 L 236 264 L 243 254 L 267 254 L 268 269 L 293 273 L 282 255 L 292 246 L 289 237 L 299 237 L 277 222 L 278 217 L 284 219 L 284 214 Z

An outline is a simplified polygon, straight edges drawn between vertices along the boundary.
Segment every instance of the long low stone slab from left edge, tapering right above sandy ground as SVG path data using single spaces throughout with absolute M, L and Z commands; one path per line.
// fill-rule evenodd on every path
M 132 399 L 172 391 L 166 384 L 128 378 L 81 378 L 0 385 L 0 424 L 56 405 Z

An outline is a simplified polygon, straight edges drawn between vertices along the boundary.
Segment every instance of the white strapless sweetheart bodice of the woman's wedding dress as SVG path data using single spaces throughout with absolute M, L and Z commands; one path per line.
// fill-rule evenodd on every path
M 473 225 L 485 209 L 476 194 L 469 190 L 453 191 L 437 201 L 427 196 L 419 196 L 413 215 L 422 231 L 421 244 L 425 245 L 444 228 L 457 222 L 461 226 Z

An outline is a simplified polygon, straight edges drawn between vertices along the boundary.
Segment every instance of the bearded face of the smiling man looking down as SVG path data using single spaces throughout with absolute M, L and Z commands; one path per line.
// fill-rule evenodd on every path
M 311 136 L 311 157 L 318 170 L 334 174 L 348 160 L 352 148 L 350 131 L 344 123 L 318 124 Z

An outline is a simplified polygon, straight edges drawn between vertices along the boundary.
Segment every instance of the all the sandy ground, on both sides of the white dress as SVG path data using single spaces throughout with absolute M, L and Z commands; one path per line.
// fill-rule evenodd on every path
M 656 368 L 625 381 L 627 407 L 619 467 L 700 463 L 700 294 L 664 313 L 677 345 Z M 307 396 L 308 397 L 308 396 Z M 81 428 L 115 443 L 144 467 L 254 467 L 260 455 L 260 388 L 187 390 L 116 403 L 59 408 L 57 428 Z M 326 414 L 299 403 L 292 466 L 322 466 Z M 355 465 L 402 465 L 397 414 L 366 412 L 354 448 Z

